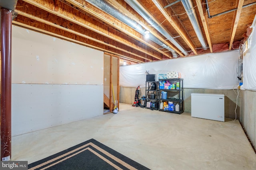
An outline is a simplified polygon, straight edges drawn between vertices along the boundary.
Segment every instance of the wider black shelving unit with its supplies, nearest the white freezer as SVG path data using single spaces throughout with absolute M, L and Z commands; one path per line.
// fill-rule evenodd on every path
M 183 79 L 159 79 L 159 111 L 181 114 L 184 112 Z

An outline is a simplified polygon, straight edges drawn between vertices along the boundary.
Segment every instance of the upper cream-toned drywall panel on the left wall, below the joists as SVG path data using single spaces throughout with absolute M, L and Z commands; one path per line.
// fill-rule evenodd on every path
M 12 83 L 103 84 L 102 51 L 12 26 Z

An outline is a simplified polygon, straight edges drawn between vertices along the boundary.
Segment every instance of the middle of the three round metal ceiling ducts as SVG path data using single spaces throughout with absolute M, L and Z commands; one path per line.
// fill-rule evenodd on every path
M 182 47 L 182 45 L 176 41 L 168 32 L 166 32 L 160 25 L 155 23 L 154 20 L 148 15 L 144 9 L 138 4 L 138 2 L 135 0 L 124 0 L 127 4 L 129 4 L 142 18 L 144 18 L 152 27 L 154 27 L 158 32 L 160 32 L 166 39 L 168 39 L 174 46 L 176 46 L 184 55 L 188 56 L 188 53 L 186 52 L 186 49 Z

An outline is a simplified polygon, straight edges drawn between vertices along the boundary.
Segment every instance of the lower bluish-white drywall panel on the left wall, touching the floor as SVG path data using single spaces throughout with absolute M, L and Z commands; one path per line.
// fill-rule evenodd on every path
M 12 84 L 12 136 L 103 115 L 103 85 Z

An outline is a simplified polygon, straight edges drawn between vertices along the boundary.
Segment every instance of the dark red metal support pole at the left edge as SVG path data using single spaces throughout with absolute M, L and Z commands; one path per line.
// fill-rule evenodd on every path
M 1 9 L 1 161 L 11 159 L 12 11 Z

